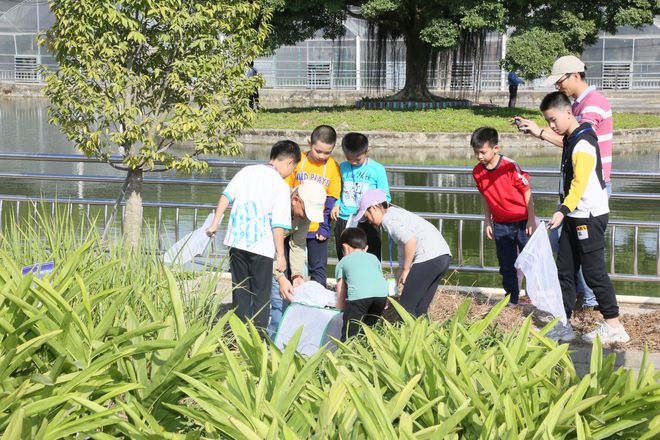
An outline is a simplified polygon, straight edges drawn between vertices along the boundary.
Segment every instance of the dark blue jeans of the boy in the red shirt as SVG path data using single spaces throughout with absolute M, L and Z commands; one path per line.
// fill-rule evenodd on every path
M 514 264 L 518 253 L 525 247 L 529 237 L 525 232 L 527 220 L 512 223 L 493 222 L 493 236 L 497 260 L 500 262 L 502 287 L 507 295 L 511 295 L 510 302 L 518 303 L 520 286 L 518 285 L 518 271 Z

